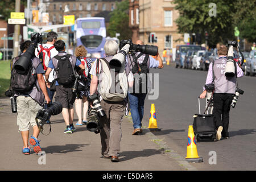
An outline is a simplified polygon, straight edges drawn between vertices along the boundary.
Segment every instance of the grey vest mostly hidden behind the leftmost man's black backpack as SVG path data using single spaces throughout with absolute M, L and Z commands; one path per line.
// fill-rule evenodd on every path
M 13 65 L 16 62 L 16 60 L 18 60 L 18 57 L 15 57 L 13 59 Z M 38 68 L 39 64 L 42 64 L 41 61 L 34 57 L 33 59 L 31 59 L 32 61 L 32 68 L 33 68 L 33 73 L 36 74 L 36 68 Z M 11 68 L 13 68 L 13 65 Z M 14 68 L 13 68 L 14 69 Z M 38 80 L 36 80 L 36 85 L 33 86 L 32 90 L 28 93 L 19 93 L 19 92 L 15 92 L 15 96 L 19 96 L 19 95 L 28 95 L 30 96 L 33 100 L 37 101 L 41 106 L 43 106 L 44 104 L 44 94 L 42 92 L 42 90 L 40 89 L 40 86 L 38 84 Z

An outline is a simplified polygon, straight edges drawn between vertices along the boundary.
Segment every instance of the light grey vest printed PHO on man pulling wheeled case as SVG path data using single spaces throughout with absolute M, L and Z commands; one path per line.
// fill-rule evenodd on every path
M 236 92 L 236 76 L 231 78 L 225 76 L 226 60 L 226 57 L 220 57 L 219 59 L 214 60 L 214 92 L 234 94 Z

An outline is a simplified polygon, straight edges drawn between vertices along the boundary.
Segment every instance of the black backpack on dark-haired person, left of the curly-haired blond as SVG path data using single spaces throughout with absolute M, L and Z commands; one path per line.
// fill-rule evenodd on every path
M 57 73 L 57 81 L 60 85 L 65 87 L 71 87 L 75 82 L 75 73 L 69 61 L 71 56 L 72 55 L 69 54 L 64 56 L 54 56 L 55 59 L 58 60 L 57 68 L 55 69 Z

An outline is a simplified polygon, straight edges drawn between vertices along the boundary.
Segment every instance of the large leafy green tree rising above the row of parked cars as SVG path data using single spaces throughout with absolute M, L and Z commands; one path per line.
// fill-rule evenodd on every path
M 205 31 L 209 34 L 208 44 L 225 43 L 234 39 L 233 12 L 236 0 L 174 0 L 175 9 L 179 10 L 179 18 L 176 19 L 179 33 L 199 33 L 203 37 Z M 210 3 L 216 4 L 216 16 L 210 16 Z

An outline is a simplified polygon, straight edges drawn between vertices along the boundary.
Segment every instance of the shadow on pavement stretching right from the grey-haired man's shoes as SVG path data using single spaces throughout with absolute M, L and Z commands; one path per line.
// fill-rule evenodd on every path
M 151 155 L 163 154 L 164 150 L 155 150 L 155 149 L 145 149 L 142 151 L 125 151 L 120 153 L 120 158 L 122 161 L 131 160 L 139 157 L 148 157 Z

